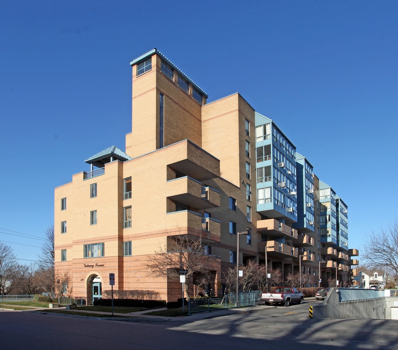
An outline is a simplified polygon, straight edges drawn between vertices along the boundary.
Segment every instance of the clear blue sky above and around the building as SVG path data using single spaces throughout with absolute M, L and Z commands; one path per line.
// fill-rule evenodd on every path
M 1 1 L 0 241 L 37 259 L 42 241 L 16 235 L 44 237 L 54 188 L 124 150 L 129 61 L 156 47 L 208 102 L 240 92 L 273 119 L 361 249 L 397 217 L 397 18 L 382 0 Z

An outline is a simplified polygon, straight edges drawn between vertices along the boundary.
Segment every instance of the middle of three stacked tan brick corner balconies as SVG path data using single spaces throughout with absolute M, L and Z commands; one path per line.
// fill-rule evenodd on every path
M 166 196 L 173 201 L 194 209 L 207 209 L 220 206 L 220 192 L 189 176 L 167 181 Z

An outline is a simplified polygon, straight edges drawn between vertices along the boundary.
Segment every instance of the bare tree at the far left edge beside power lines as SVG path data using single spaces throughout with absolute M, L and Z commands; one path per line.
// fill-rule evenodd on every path
M 16 282 L 18 264 L 9 245 L 0 242 L 0 295 L 11 292 Z

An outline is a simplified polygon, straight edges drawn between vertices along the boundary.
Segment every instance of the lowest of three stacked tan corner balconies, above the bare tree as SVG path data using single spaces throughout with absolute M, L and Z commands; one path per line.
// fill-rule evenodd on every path
M 170 236 L 186 233 L 188 229 L 198 236 L 211 241 L 220 242 L 221 223 L 215 219 L 205 219 L 198 213 L 190 210 L 169 212 L 166 215 L 166 228 Z

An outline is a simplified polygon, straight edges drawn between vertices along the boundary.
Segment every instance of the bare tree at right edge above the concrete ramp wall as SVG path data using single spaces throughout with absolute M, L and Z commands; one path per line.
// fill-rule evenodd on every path
M 393 270 L 398 275 L 398 221 L 365 237 L 363 262 L 372 269 Z

